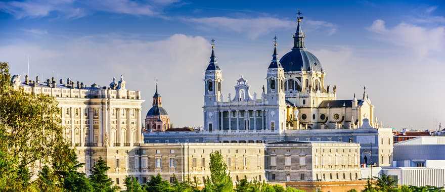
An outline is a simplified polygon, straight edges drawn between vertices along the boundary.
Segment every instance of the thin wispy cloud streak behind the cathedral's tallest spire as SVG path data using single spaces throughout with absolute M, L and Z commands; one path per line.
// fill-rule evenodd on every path
M 186 18 L 186 22 L 199 24 L 201 29 L 219 29 L 246 34 L 250 39 L 256 39 L 259 36 L 269 34 L 272 31 L 280 29 L 294 29 L 295 21 L 282 20 L 273 17 L 257 18 L 230 18 L 230 17 L 204 17 L 204 18 Z M 325 21 L 305 21 L 309 30 L 327 29 L 328 35 L 335 33 L 336 26 Z

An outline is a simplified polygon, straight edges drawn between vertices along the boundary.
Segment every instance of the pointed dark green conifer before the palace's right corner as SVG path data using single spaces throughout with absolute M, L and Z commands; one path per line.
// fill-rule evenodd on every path
M 99 157 L 96 165 L 91 171 L 90 180 L 95 191 L 115 191 L 113 181 L 108 178 L 107 171 L 110 167 L 107 166 L 102 157 Z

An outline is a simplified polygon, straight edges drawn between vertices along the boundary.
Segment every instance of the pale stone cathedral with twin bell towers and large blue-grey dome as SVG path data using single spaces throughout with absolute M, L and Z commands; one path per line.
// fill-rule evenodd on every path
M 326 85 L 326 72 L 318 58 L 307 51 L 298 15 L 294 45 L 281 59 L 274 52 L 260 97 L 249 92 L 241 77 L 229 101 L 222 95 L 222 70 L 212 40 L 212 54 L 205 71 L 204 126 L 206 130 L 356 129 L 369 119 L 378 126 L 374 106 L 366 91 L 360 99 L 337 100 L 336 86 Z M 366 90 L 366 88 L 365 88 Z

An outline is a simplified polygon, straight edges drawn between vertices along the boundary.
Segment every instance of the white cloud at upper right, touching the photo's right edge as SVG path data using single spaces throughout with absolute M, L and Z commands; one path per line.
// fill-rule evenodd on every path
M 426 28 L 402 22 L 387 28 L 385 21 L 379 19 L 375 20 L 368 30 L 376 33 L 382 41 L 411 50 L 418 59 L 445 50 L 443 26 Z

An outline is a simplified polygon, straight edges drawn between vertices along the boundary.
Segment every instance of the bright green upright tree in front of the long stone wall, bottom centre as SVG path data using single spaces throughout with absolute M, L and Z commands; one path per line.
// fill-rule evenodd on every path
M 210 154 L 210 178 L 204 182 L 205 191 L 232 191 L 233 182 L 219 151 Z

